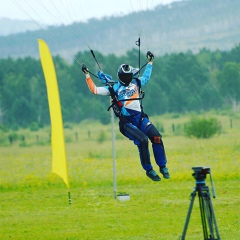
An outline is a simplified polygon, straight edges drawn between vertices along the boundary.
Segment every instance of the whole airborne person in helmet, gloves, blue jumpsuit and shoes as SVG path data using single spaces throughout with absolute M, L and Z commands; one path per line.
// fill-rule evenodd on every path
M 139 99 L 139 85 L 144 86 L 147 84 L 152 73 L 154 55 L 148 51 L 146 56 L 148 58 L 148 64 L 146 65 L 142 76 L 138 77 L 138 79 L 134 78 L 139 70 L 127 64 L 122 64 L 117 73 L 119 81 L 112 86 L 112 89 L 118 100 L 118 109 L 120 110 L 120 132 L 137 145 L 141 165 L 146 171 L 146 175 L 153 181 L 160 181 L 161 178 L 153 170 L 150 161 L 148 139 L 150 139 L 152 143 L 154 158 L 156 164 L 159 166 L 160 173 L 164 178 L 169 179 L 170 174 L 166 167 L 167 158 L 165 155 L 162 135 L 152 122 L 150 122 L 148 116 L 142 111 Z M 109 86 L 97 87 L 94 84 L 85 65 L 82 66 L 82 71 L 86 76 L 88 87 L 93 94 L 111 95 Z

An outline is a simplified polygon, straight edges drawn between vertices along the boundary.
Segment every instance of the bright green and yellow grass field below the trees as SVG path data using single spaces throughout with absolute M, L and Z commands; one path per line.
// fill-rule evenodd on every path
M 51 173 L 49 128 L 19 130 L 24 144 L 0 148 L 0 239 L 179 239 L 195 186 L 193 166 L 211 167 L 221 239 L 240 239 L 240 118 L 233 116 L 232 126 L 229 116 L 217 117 L 222 133 L 210 139 L 184 137 L 188 117 L 151 119 L 164 130 L 171 173 L 161 182 L 146 177 L 136 147 L 116 126 L 117 192 L 128 193 L 129 201 L 114 198 L 111 126 L 65 129 L 71 205 L 65 184 Z M 211 189 L 208 175 L 206 184 Z M 197 198 L 186 239 L 203 239 Z

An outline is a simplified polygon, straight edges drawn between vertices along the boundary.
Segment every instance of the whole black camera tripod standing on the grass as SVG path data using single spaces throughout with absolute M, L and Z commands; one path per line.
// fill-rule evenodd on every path
M 192 169 L 194 170 L 194 173 L 192 175 L 196 179 L 196 186 L 194 187 L 194 190 L 190 195 L 190 200 L 191 200 L 190 206 L 188 209 L 186 222 L 185 222 L 183 233 L 182 233 L 182 236 L 180 237 L 180 240 L 185 240 L 188 223 L 190 220 L 196 194 L 198 194 L 198 199 L 199 199 L 204 240 L 220 240 L 217 221 L 216 221 L 216 217 L 213 210 L 211 196 L 209 193 L 209 188 L 205 184 L 206 174 L 209 173 L 211 183 L 212 183 L 213 197 L 215 198 L 215 192 L 213 188 L 213 181 L 212 181 L 210 168 L 193 167 Z

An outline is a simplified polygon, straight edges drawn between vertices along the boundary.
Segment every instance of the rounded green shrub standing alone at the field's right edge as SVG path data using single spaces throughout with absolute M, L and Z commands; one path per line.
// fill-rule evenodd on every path
M 188 137 L 210 138 L 220 133 L 221 125 L 216 118 L 192 118 L 184 127 Z

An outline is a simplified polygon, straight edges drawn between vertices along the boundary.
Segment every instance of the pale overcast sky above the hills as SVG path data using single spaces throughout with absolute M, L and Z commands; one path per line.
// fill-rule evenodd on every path
M 0 18 L 70 24 L 90 18 L 120 16 L 180 0 L 1 0 Z

